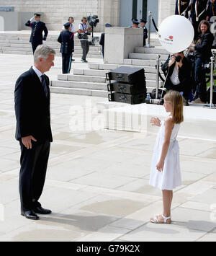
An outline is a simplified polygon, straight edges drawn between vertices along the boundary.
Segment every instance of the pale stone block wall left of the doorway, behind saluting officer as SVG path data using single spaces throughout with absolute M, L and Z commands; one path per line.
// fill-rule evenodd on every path
M 98 15 L 95 31 L 104 31 L 106 23 L 120 23 L 120 0 L 0 0 L 0 6 L 14 6 L 15 12 L 43 13 L 41 20 L 48 30 L 60 30 L 69 16 L 74 17 L 77 28 L 82 17 Z

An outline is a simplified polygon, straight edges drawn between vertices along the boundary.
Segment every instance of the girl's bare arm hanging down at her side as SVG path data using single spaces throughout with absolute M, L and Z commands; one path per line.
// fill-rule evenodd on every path
M 165 121 L 165 136 L 163 141 L 163 147 L 161 152 L 161 159 L 159 160 L 156 168 L 159 172 L 163 172 L 164 161 L 168 152 L 168 146 L 170 144 L 171 134 L 174 128 L 174 122 L 172 118 L 167 118 Z

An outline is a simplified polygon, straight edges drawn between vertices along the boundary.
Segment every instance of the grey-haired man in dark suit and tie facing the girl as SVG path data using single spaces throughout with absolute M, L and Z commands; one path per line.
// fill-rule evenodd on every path
M 16 139 L 21 148 L 19 194 L 21 214 L 37 220 L 39 214 L 50 214 L 39 203 L 45 183 L 50 142 L 49 78 L 44 73 L 54 66 L 55 50 L 39 45 L 34 54 L 34 66 L 17 79 L 14 102 L 17 119 Z

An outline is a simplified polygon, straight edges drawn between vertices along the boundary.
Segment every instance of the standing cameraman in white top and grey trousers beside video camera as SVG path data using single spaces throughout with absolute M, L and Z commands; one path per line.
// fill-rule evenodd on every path
M 87 19 L 83 17 L 81 20 L 82 23 L 78 25 L 78 39 L 81 42 L 81 48 L 83 49 L 83 56 L 81 58 L 82 63 L 87 63 L 86 56 L 89 53 L 89 31 L 91 31 L 91 28 L 87 25 Z

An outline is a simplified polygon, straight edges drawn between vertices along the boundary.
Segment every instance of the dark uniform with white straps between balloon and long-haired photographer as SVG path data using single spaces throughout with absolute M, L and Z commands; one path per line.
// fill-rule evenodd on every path
M 208 0 L 194 0 L 192 4 L 192 23 L 194 26 L 194 39 L 197 39 L 199 23 L 207 17 L 207 2 Z

